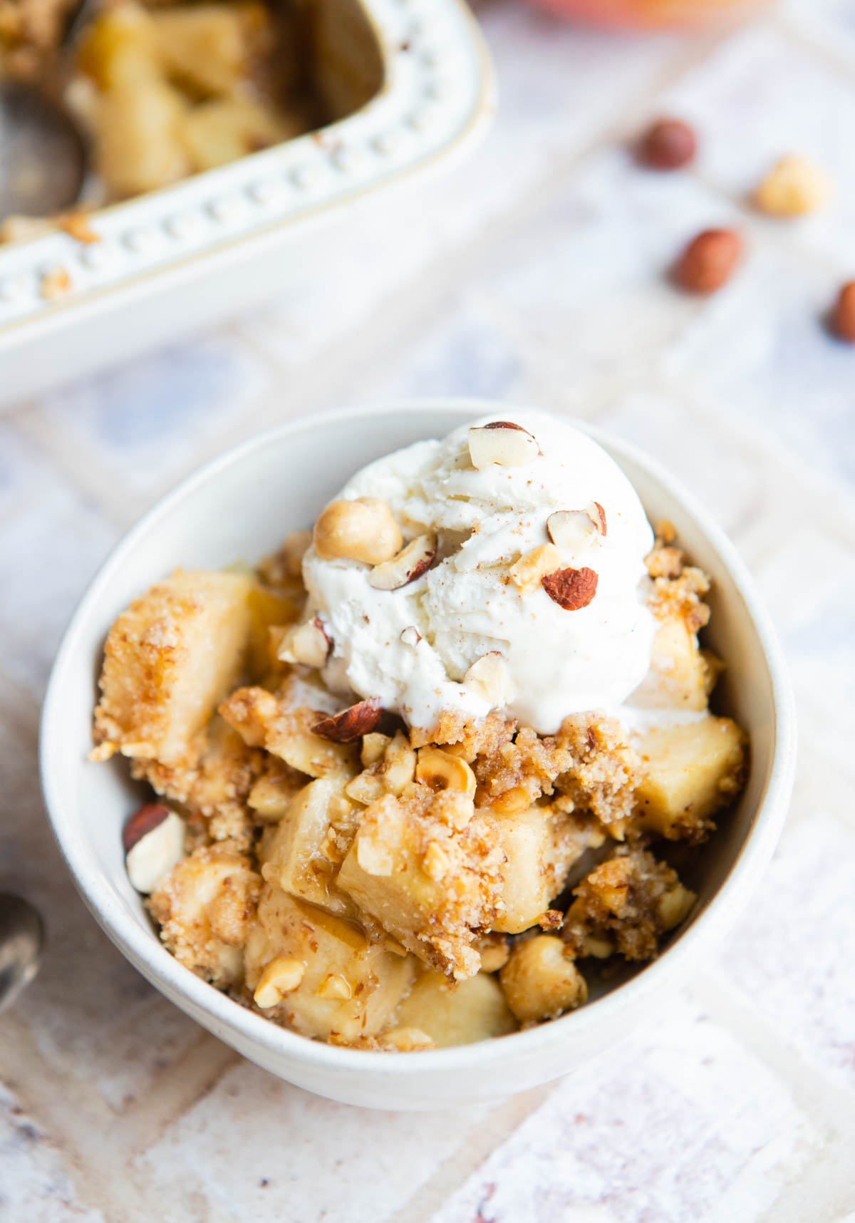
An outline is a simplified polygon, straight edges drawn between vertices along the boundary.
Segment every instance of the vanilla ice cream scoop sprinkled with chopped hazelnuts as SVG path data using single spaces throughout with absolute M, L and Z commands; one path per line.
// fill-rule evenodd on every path
M 616 712 L 647 674 L 653 533 L 618 465 L 560 419 L 484 417 L 377 460 L 339 499 L 366 499 L 367 521 L 385 503 L 409 552 L 306 553 L 333 686 L 426 729 L 498 708 L 553 734 Z

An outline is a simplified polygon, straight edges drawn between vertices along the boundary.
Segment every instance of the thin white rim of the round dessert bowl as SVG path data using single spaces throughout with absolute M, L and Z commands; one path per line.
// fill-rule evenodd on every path
M 192 1005 L 193 1018 L 221 1038 L 228 1038 L 226 1032 L 235 1032 L 242 1037 L 243 1042 L 264 1049 L 273 1059 L 325 1068 L 330 1071 L 367 1074 L 377 1079 L 398 1076 L 405 1071 L 407 1076 L 423 1080 L 462 1069 L 484 1069 L 510 1058 L 525 1058 L 535 1052 L 539 1053 L 564 1044 L 564 1042 L 583 1040 L 586 1033 L 597 1027 L 607 1026 L 609 1020 L 619 1019 L 620 1014 L 629 1014 L 634 1008 L 640 1009 L 643 1003 L 652 1002 L 653 996 L 663 993 L 663 989 L 679 975 L 681 965 L 691 959 L 698 961 L 698 953 L 702 948 L 711 944 L 716 936 L 723 936 L 738 916 L 772 856 L 787 816 L 795 773 L 795 702 L 790 679 L 769 615 L 734 545 L 695 497 L 685 490 L 679 481 L 674 479 L 656 460 L 650 459 L 643 450 L 588 424 L 586 421 L 561 416 L 569 424 L 587 433 L 594 442 L 605 444 L 614 453 L 619 464 L 627 459 L 642 466 L 656 482 L 680 501 L 680 506 L 695 520 L 727 567 L 734 583 L 735 594 L 741 600 L 755 627 L 769 675 L 774 717 L 772 764 L 766 790 L 753 812 L 751 826 L 728 874 L 692 925 L 657 960 L 647 964 L 630 981 L 624 982 L 593 1003 L 559 1019 L 475 1044 L 391 1053 L 333 1046 L 273 1024 L 262 1015 L 241 1007 L 201 977 L 194 976 L 160 944 L 153 931 L 144 929 L 138 923 L 120 904 L 113 894 L 111 885 L 91 861 L 84 838 L 78 832 L 73 810 L 64 797 L 62 777 L 57 767 L 59 757 L 54 746 L 59 742 L 62 733 L 61 697 L 65 673 L 81 648 L 78 638 L 86 632 L 92 615 L 97 615 L 98 605 L 104 592 L 109 588 L 114 570 L 120 567 L 135 552 L 139 538 L 171 515 L 198 488 L 215 481 L 224 470 L 245 462 L 254 453 L 274 442 L 280 443 L 285 438 L 317 429 L 319 424 L 352 423 L 357 419 L 374 419 L 389 413 L 398 416 L 401 412 L 424 412 L 438 408 L 454 411 L 464 423 L 467 417 L 475 418 L 490 411 L 506 413 L 509 408 L 522 410 L 522 405 L 509 405 L 486 399 L 437 396 L 396 399 L 336 408 L 312 416 L 300 416 L 230 446 L 185 477 L 171 492 L 159 498 L 119 539 L 80 599 L 56 652 L 39 729 L 42 793 L 54 838 L 84 904 L 102 929 L 135 967 L 176 1005 L 182 1005 L 177 1002 L 179 998 L 186 999 Z M 426 433 L 426 435 L 429 434 Z M 182 1007 L 182 1009 L 185 1008 Z M 204 1018 L 199 1018 L 199 1013 Z

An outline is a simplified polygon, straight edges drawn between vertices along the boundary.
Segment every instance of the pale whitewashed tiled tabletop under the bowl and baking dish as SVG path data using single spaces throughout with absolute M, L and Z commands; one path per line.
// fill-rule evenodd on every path
M 822 327 L 855 274 L 855 5 L 647 39 L 478 11 L 502 105 L 470 161 L 363 205 L 290 300 L 0 422 L 0 887 L 49 928 L 0 1019 L 4 1223 L 855 1219 L 855 350 Z M 665 111 L 703 133 L 691 172 L 626 153 Z M 837 198 L 773 224 L 746 193 L 788 152 Z M 680 243 L 730 223 L 739 275 L 675 294 Z M 35 734 L 64 621 L 155 497 L 268 423 L 424 394 L 576 413 L 680 471 L 766 593 L 801 750 L 755 900 L 658 1022 L 524 1096 L 401 1118 L 279 1082 L 143 982 L 57 859 Z

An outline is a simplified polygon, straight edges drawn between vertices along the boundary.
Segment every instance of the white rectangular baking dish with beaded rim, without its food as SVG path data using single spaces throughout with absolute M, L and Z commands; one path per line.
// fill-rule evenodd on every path
M 377 76 L 353 114 L 103 209 L 98 243 L 0 247 L 0 407 L 283 296 L 366 193 L 444 165 L 481 128 L 492 72 L 462 0 L 318 0 L 342 68 Z M 344 33 L 342 33 L 344 32 Z M 45 300 L 55 269 L 70 290 Z

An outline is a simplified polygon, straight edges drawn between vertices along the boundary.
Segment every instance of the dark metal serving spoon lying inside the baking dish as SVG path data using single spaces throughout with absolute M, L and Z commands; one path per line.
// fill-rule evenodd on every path
M 67 48 L 97 0 L 81 0 L 68 18 Z M 0 81 L 0 220 L 45 216 L 70 208 L 86 177 L 86 142 L 65 108 L 38 83 Z

